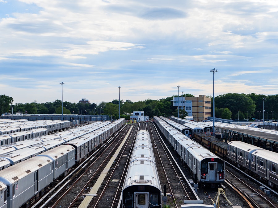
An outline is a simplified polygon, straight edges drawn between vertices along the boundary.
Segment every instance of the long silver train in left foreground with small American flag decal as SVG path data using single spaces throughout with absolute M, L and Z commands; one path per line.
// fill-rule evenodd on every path
M 91 140 L 84 138 L 86 142 L 79 142 L 75 145 L 65 143 L 1 170 L 0 197 L 3 200 L 0 200 L 0 207 L 32 206 L 40 196 L 46 193 L 53 182 L 57 182 L 57 179 L 66 175 L 75 164 L 98 149 L 124 123 L 125 119 L 121 118 L 100 128 L 98 134 L 91 137 Z M 78 155 L 83 158 L 78 158 Z

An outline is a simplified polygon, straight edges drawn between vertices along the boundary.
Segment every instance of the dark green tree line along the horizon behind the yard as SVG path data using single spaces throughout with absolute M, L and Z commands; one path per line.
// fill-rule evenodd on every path
M 186 94 L 186 97 L 194 97 L 192 94 Z M 159 100 L 146 99 L 144 101 L 132 102 L 131 100 L 120 100 L 120 117 L 129 118 L 129 113 L 133 111 L 144 111 L 146 116 L 177 116 L 177 107 L 173 106 L 173 97 L 177 95 L 162 98 Z M 263 100 L 265 98 L 265 100 Z M 232 120 L 263 119 L 274 120 L 278 115 L 278 95 L 256 95 L 227 93 L 215 97 L 215 117 Z M 212 99 L 213 101 L 213 99 Z M 212 103 L 213 106 L 213 103 Z M 62 101 L 46 103 L 16 103 L 13 104 L 13 98 L 6 95 L 0 95 L 0 113 L 11 113 L 12 108 L 15 112 L 28 114 L 61 114 Z M 213 110 L 213 109 L 212 109 Z M 63 102 L 63 114 L 78 115 L 109 115 L 113 118 L 119 117 L 119 100 L 111 102 L 101 102 L 99 105 Z M 180 116 L 187 116 L 187 112 L 179 110 Z

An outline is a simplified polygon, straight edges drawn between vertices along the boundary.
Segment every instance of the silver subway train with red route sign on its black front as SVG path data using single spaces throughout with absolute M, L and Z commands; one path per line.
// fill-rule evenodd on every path
M 224 183 L 225 163 L 220 157 L 189 139 L 161 118 L 154 116 L 154 123 L 195 175 L 196 183 L 211 187 Z

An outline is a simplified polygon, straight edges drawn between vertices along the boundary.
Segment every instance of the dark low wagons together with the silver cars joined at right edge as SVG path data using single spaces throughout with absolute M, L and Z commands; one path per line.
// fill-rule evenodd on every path
M 278 153 L 242 141 L 226 143 L 202 133 L 195 133 L 194 140 L 252 177 L 278 190 Z

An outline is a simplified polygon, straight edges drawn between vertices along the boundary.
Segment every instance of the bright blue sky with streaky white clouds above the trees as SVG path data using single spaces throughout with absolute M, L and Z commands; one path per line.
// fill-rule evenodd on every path
M 213 96 L 214 68 L 215 96 L 276 95 L 277 26 L 277 0 L 0 0 L 0 95 Z

